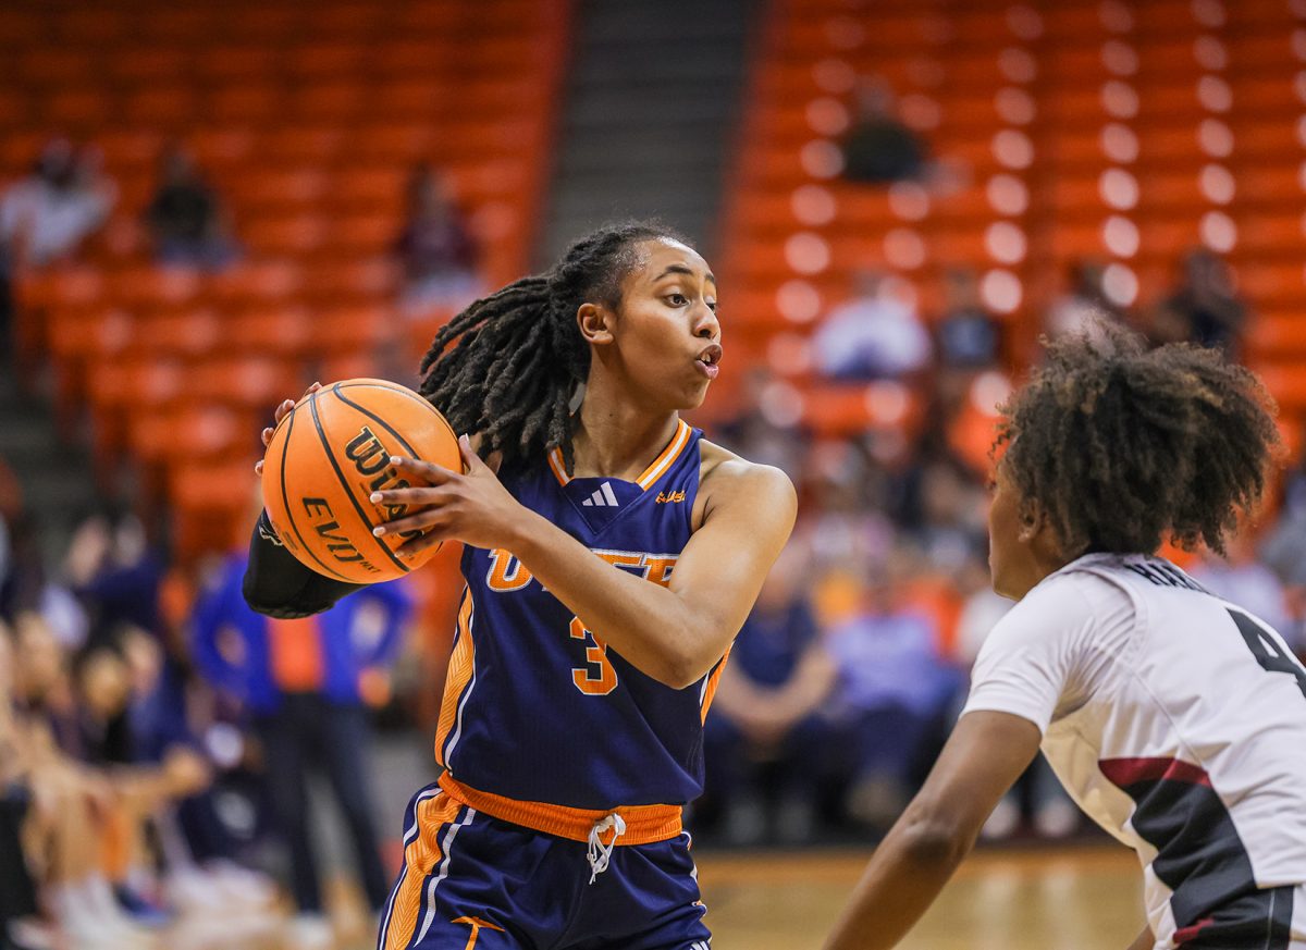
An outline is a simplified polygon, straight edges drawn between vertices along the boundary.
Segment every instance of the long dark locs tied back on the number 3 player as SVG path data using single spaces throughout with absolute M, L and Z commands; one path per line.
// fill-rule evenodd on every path
M 520 467 L 562 446 L 572 471 L 571 398 L 589 373 L 576 325 L 584 303 L 616 308 L 639 244 L 683 239 L 657 222 L 609 224 L 572 244 L 550 270 L 477 300 L 435 335 L 419 390 L 454 432 L 481 433 L 481 454 Z

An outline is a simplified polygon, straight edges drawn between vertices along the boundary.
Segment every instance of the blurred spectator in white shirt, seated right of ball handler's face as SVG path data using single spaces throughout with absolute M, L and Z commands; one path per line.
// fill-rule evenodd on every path
M 930 333 L 900 282 L 878 270 L 854 278 L 853 299 L 836 307 L 812 335 L 818 371 L 832 380 L 899 378 L 926 369 Z

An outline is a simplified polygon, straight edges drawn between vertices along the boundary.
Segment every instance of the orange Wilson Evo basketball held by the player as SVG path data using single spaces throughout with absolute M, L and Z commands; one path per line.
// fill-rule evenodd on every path
M 458 440 L 426 399 L 385 380 L 345 380 L 306 397 L 277 424 L 263 462 L 263 501 L 282 543 L 319 574 L 353 583 L 402 577 L 439 545 L 415 557 L 394 551 L 415 536 L 372 529 L 407 514 L 375 505 L 372 492 L 417 484 L 390 455 L 462 471 Z

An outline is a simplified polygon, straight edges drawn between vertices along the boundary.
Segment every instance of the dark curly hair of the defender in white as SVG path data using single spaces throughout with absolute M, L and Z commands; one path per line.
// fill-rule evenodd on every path
M 1224 553 L 1280 453 L 1276 406 L 1216 350 L 1148 351 L 1106 324 L 1047 347 L 1002 407 L 998 445 L 1021 497 L 1040 502 L 1063 553 L 1152 553 L 1166 538 Z

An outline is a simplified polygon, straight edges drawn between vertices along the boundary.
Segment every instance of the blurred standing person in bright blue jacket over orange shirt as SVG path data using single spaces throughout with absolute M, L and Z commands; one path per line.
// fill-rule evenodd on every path
M 290 847 L 291 893 L 300 913 L 295 937 L 303 947 L 329 946 L 308 775 L 321 769 L 329 779 L 367 902 L 379 912 L 389 881 L 374 827 L 362 689 L 394 658 L 411 600 L 402 583 L 377 583 L 325 613 L 274 620 L 246 604 L 244 572 L 244 555 L 232 556 L 200 596 L 192 629 L 195 662 L 253 716 L 273 817 Z

